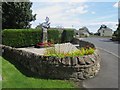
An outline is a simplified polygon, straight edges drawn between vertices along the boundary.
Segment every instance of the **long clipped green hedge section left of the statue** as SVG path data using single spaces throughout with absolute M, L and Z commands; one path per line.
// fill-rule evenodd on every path
M 32 46 L 41 42 L 42 30 L 5 29 L 2 31 L 2 43 L 12 47 Z

